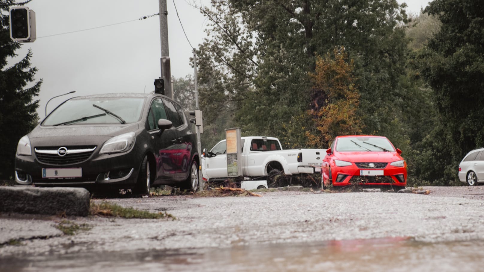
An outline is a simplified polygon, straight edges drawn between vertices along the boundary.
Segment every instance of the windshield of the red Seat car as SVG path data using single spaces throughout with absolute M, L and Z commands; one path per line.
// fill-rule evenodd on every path
M 336 141 L 336 151 L 394 152 L 392 144 L 383 137 L 341 137 Z

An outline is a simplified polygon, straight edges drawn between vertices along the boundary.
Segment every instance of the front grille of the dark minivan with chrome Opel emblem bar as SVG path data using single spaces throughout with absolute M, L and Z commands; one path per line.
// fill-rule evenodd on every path
M 87 160 L 96 146 L 36 147 L 37 159 L 46 164 L 69 165 Z

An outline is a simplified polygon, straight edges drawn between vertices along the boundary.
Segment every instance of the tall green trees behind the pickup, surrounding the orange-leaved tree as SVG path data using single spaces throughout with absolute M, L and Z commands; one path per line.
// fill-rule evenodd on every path
M 216 121 L 227 114 L 225 124 L 244 135 L 302 145 L 299 130 L 312 124 L 298 116 L 311 103 L 316 56 L 344 46 L 355 61 L 364 133 L 391 131 L 400 106 L 395 93 L 405 91 L 399 88 L 408 53 L 403 7 L 395 0 L 212 1 L 212 10 L 203 10 L 211 28 L 199 50 L 204 116 Z

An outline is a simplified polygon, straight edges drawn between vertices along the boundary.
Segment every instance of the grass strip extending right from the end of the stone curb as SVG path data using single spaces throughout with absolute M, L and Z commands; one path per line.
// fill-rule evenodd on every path
M 171 218 L 176 220 L 175 216 L 166 212 L 148 212 L 140 211 L 134 208 L 124 208 L 117 204 L 112 204 L 109 202 L 96 203 L 91 201 L 90 208 L 91 215 L 100 216 L 113 216 L 122 218 L 141 218 L 141 219 L 159 219 L 159 218 Z

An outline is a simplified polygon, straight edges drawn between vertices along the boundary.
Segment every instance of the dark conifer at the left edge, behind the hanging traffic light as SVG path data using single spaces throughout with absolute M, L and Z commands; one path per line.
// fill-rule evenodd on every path
M 37 124 L 39 104 L 34 97 L 42 84 L 42 80 L 35 82 L 37 69 L 30 67 L 30 50 L 19 62 L 9 63 L 21 47 L 10 39 L 9 18 L 3 14 L 14 3 L 0 0 L 0 179 L 13 175 L 17 142 Z

